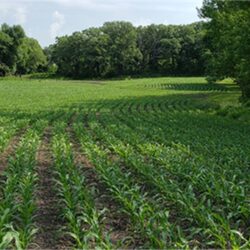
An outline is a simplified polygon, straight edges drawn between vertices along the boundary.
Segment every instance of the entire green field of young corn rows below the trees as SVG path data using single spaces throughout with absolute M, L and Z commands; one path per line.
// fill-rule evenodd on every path
M 249 249 L 239 96 L 204 78 L 0 79 L 0 249 Z

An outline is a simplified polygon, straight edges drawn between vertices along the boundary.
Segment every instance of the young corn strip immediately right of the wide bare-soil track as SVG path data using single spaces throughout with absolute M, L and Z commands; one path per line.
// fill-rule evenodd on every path
M 63 127 L 62 124 L 58 128 L 60 132 L 54 136 L 52 148 L 55 182 L 68 234 L 74 239 L 77 248 L 110 249 L 111 244 L 101 225 L 103 212 L 95 208 L 82 170 L 75 166 L 72 146 Z

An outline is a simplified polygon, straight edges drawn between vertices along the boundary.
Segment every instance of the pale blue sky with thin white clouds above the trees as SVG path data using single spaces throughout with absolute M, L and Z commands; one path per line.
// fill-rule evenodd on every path
M 26 35 L 45 47 L 57 36 L 107 21 L 135 26 L 199 21 L 202 0 L 0 0 L 0 24 L 21 24 Z

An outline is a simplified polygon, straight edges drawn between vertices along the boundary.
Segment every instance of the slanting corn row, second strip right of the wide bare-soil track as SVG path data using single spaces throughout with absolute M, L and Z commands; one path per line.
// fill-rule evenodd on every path
M 141 194 L 141 188 L 131 182 L 130 174 L 123 174 L 119 166 L 109 160 L 109 152 L 97 146 L 81 125 L 76 125 L 74 129 L 97 174 L 130 216 L 135 230 L 149 240 L 150 246 L 166 248 L 172 241 L 175 247 L 186 244 L 184 237 L 177 240 L 171 235 L 174 230 L 169 223 L 168 212 L 156 211 L 155 206 L 148 202 L 147 194 Z

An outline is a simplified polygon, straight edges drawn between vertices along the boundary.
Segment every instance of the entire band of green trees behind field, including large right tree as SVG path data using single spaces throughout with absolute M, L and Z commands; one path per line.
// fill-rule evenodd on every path
M 134 27 L 107 22 L 58 37 L 42 50 L 22 27 L 0 28 L 0 75 L 49 71 L 71 78 L 227 77 L 250 98 L 250 2 L 204 0 L 203 22 Z

